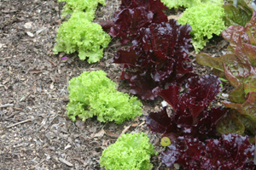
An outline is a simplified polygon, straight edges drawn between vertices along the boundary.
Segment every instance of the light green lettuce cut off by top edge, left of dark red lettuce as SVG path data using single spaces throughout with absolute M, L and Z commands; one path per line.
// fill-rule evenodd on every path
M 67 14 L 73 14 L 73 12 L 86 12 L 90 16 L 87 20 L 90 21 L 94 19 L 98 3 L 101 3 L 103 6 L 106 5 L 105 0 L 58 0 L 58 2 L 66 2 L 62 10 L 63 17 Z

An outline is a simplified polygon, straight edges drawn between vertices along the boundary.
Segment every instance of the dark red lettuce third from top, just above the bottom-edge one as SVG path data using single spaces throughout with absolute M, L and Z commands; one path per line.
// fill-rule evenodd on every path
M 189 90 L 179 96 L 180 87 L 172 83 L 159 95 L 172 106 L 172 114 L 168 116 L 166 107 L 159 112 L 151 112 L 146 117 L 146 124 L 154 133 L 173 133 L 176 136 L 191 136 L 204 139 L 207 135 L 216 136 L 218 121 L 228 112 L 216 108 L 208 110 L 212 100 L 220 92 L 218 77 L 191 77 L 186 84 Z

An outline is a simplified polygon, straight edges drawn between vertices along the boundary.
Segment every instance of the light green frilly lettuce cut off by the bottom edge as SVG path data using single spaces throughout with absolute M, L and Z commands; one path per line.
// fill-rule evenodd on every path
M 150 155 L 157 154 L 146 133 L 126 133 L 103 150 L 100 164 L 106 170 L 150 170 Z

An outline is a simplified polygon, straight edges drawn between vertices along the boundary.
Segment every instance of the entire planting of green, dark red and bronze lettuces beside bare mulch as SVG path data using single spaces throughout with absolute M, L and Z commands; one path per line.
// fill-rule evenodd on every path
M 113 57 L 113 63 L 121 64 L 120 78 L 129 82 L 131 94 L 150 100 L 160 96 L 172 106 L 171 111 L 163 107 L 148 113 L 145 120 L 167 146 L 160 156 L 166 167 L 178 163 L 183 169 L 256 168 L 251 160 L 256 134 L 256 14 L 252 1 L 241 0 L 235 8 L 232 1 L 223 5 L 222 0 L 122 0 L 113 20 L 99 24 L 92 20 L 97 4 L 105 2 L 65 2 L 62 14 L 71 17 L 58 30 L 55 54 L 77 51 L 80 59 L 95 63 L 102 58 L 110 36 L 119 37 L 125 47 L 127 42 L 132 44 Z M 186 9 L 178 20 L 168 20 L 163 12 L 166 6 Z M 235 88 L 230 101 L 223 101 L 225 108 L 212 108 L 221 81 L 217 76 L 193 73 L 189 49 L 194 46 L 199 52 L 212 34 L 220 32 L 230 42 L 227 54 L 196 56 L 198 63 L 214 68 L 218 77 Z M 100 122 L 120 124 L 142 115 L 137 97 L 118 92 L 104 71 L 84 71 L 74 77 L 69 93 L 67 116 L 73 121 L 97 116 Z M 103 150 L 100 163 L 107 170 L 151 169 L 151 154 L 157 153 L 145 133 L 128 133 Z

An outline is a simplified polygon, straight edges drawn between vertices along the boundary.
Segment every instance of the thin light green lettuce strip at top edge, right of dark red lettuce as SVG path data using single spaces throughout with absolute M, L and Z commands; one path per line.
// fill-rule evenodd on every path
M 201 3 L 214 3 L 214 4 L 223 4 L 223 0 L 161 0 L 167 8 L 178 8 L 178 7 L 195 7 Z

